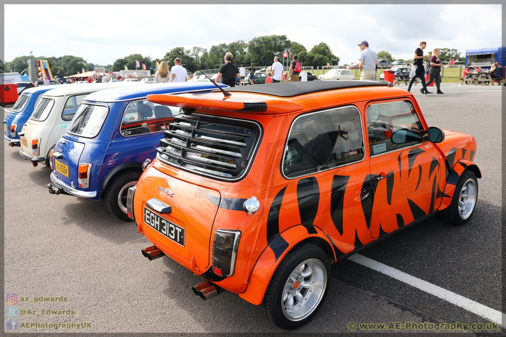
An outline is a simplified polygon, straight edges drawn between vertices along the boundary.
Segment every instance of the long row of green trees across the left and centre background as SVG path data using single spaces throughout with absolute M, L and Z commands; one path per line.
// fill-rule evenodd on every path
M 313 46 L 309 51 L 302 44 L 295 41 L 290 41 L 286 35 L 266 35 L 254 37 L 250 41 L 245 42 L 244 40 L 233 41 L 232 43 L 222 43 L 219 45 L 212 46 L 207 49 L 201 47 L 192 47 L 185 49 L 183 47 L 173 48 L 167 52 L 160 59 L 152 59 L 150 56 L 143 56 L 142 54 L 131 54 L 123 58 L 119 58 L 114 61 L 113 64 L 99 65 L 88 63 L 82 57 L 65 55 L 61 57 L 45 57 L 37 56 L 34 57 L 36 60 L 48 60 L 51 72 L 55 77 L 63 77 L 76 74 L 77 71 L 85 69 L 86 71 L 92 71 L 95 67 L 104 67 L 106 71 L 119 71 L 123 70 L 126 66 L 128 69 L 135 69 L 135 61 L 146 65 L 146 69 L 156 71 L 156 62 L 167 61 L 169 66 L 174 64 L 174 59 L 180 57 L 177 52 L 181 52 L 186 58 L 188 58 L 198 68 L 214 69 L 219 68 L 223 64 L 223 57 L 225 53 L 230 52 L 234 55 L 232 62 L 236 65 L 244 64 L 249 66 L 251 63 L 256 65 L 270 65 L 273 63 L 274 56 L 283 56 L 283 52 L 289 53 L 289 60 L 294 54 L 299 56 L 298 60 L 303 66 L 324 66 L 327 62 L 331 65 L 339 64 L 339 57 L 335 56 L 330 47 L 325 43 L 319 43 Z M 14 58 L 10 62 L 5 64 L 0 60 L 0 67 L 6 72 L 17 71 L 22 72 L 24 69 L 28 71 L 28 60 L 29 56 L 19 56 Z M 183 64 L 189 71 L 195 71 L 196 68 L 183 59 Z

